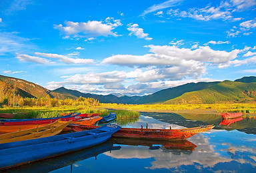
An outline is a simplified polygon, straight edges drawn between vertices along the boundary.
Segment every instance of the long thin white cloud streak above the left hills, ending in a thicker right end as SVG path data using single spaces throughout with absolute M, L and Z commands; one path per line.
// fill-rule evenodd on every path
M 67 63 L 67 64 L 91 64 L 91 63 L 93 63 L 93 59 L 72 59 L 72 58 L 66 57 L 64 55 L 58 55 L 55 53 L 35 53 L 35 55 L 38 55 L 41 57 L 59 59 L 61 62 Z

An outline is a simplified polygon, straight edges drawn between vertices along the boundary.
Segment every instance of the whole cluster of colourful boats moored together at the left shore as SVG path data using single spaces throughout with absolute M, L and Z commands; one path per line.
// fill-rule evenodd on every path
M 93 126 L 95 122 L 111 122 L 115 118 L 115 113 L 104 117 L 99 114 L 70 113 L 55 118 L 0 120 L 0 169 L 90 148 L 106 142 L 111 136 L 117 141 L 119 138 L 181 141 L 214 127 L 152 129 L 143 126 L 121 128 L 117 124 Z M 70 132 L 59 134 L 63 131 Z

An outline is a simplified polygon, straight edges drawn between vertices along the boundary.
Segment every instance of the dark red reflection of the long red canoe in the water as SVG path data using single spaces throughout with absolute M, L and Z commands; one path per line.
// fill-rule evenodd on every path
M 188 140 L 173 140 L 173 141 L 164 141 L 164 140 L 141 140 L 141 139 L 131 139 L 131 138 L 111 138 L 109 140 L 113 144 L 120 145 L 133 145 L 133 146 L 149 146 L 150 150 L 159 149 L 155 145 L 161 145 L 163 150 L 179 149 L 179 150 L 195 150 L 197 146 Z

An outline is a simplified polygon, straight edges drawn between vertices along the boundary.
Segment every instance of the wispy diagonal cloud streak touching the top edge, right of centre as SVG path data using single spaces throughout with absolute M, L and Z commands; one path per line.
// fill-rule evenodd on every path
M 163 3 L 159 3 L 157 5 L 152 5 L 151 7 L 147 8 L 142 14 L 141 16 L 145 16 L 149 13 L 155 12 L 155 11 L 159 11 L 161 9 L 166 9 L 168 7 L 174 7 L 176 5 L 179 5 L 179 3 L 181 3 L 181 1 L 183 0 L 169 0 L 169 1 L 165 1 Z

